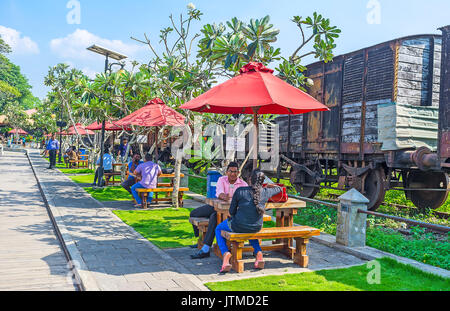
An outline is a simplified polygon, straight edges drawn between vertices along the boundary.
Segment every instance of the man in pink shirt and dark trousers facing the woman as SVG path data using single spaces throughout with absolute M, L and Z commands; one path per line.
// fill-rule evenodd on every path
M 227 167 L 226 176 L 222 176 L 217 181 L 216 186 L 216 197 L 224 200 L 230 201 L 233 197 L 234 192 L 240 187 L 247 187 L 247 183 L 240 179 L 239 176 L 239 165 L 236 162 L 231 162 Z M 211 205 L 204 205 L 194 209 L 190 217 L 206 217 L 209 218 L 208 230 L 206 232 L 205 238 L 203 240 L 203 247 L 195 255 L 191 255 L 192 259 L 201 259 L 209 257 L 209 249 L 212 246 L 215 236 L 215 229 L 217 226 L 217 213 L 214 207 Z M 194 227 L 194 234 L 196 237 L 199 236 L 199 230 L 196 226 Z M 192 245 L 192 248 L 197 248 L 197 245 Z

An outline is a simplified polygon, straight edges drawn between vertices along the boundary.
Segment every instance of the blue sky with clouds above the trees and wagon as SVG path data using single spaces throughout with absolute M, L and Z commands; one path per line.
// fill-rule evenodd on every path
M 274 45 L 285 57 L 300 43 L 300 32 L 290 21 L 294 15 L 306 17 L 317 11 L 342 29 L 336 55 L 402 36 L 438 34 L 438 27 L 450 24 L 448 0 L 1 0 L 0 35 L 13 47 L 9 57 L 21 66 L 33 93 L 43 98 L 48 91 L 43 79 L 50 66 L 66 62 L 88 75 L 103 70 L 104 58 L 87 52 L 89 44 L 148 62 L 152 56 L 148 47 L 130 37 L 147 33 L 157 45 L 159 30 L 169 26 L 169 15 L 178 18 L 186 13 L 189 2 L 204 14 L 194 32 L 206 23 L 233 17 L 247 22 L 270 15 L 281 31 Z M 74 7 L 67 6 L 72 3 L 80 4 L 79 24 L 68 22 Z

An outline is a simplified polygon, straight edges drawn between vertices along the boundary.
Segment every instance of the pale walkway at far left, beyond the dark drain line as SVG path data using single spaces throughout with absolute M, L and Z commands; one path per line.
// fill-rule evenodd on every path
M 0 290 L 76 290 L 27 158 L 0 156 Z

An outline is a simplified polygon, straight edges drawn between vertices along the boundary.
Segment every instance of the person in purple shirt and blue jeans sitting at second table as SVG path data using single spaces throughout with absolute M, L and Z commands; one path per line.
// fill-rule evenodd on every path
M 134 171 L 134 175 L 141 179 L 140 182 L 131 187 L 131 194 L 136 200 L 136 208 L 142 208 L 142 199 L 137 193 L 137 189 L 154 189 L 158 186 L 158 176 L 162 174 L 162 170 L 158 164 L 152 161 L 152 155 L 147 153 L 145 155 L 145 162 L 139 165 Z M 153 192 L 148 193 L 148 204 L 152 202 Z

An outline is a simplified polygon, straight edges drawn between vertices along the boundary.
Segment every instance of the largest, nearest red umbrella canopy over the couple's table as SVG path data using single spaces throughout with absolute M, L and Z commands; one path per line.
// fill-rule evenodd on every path
M 302 114 L 328 111 L 312 96 L 273 75 L 273 70 L 251 62 L 234 77 L 180 108 L 223 114 Z

